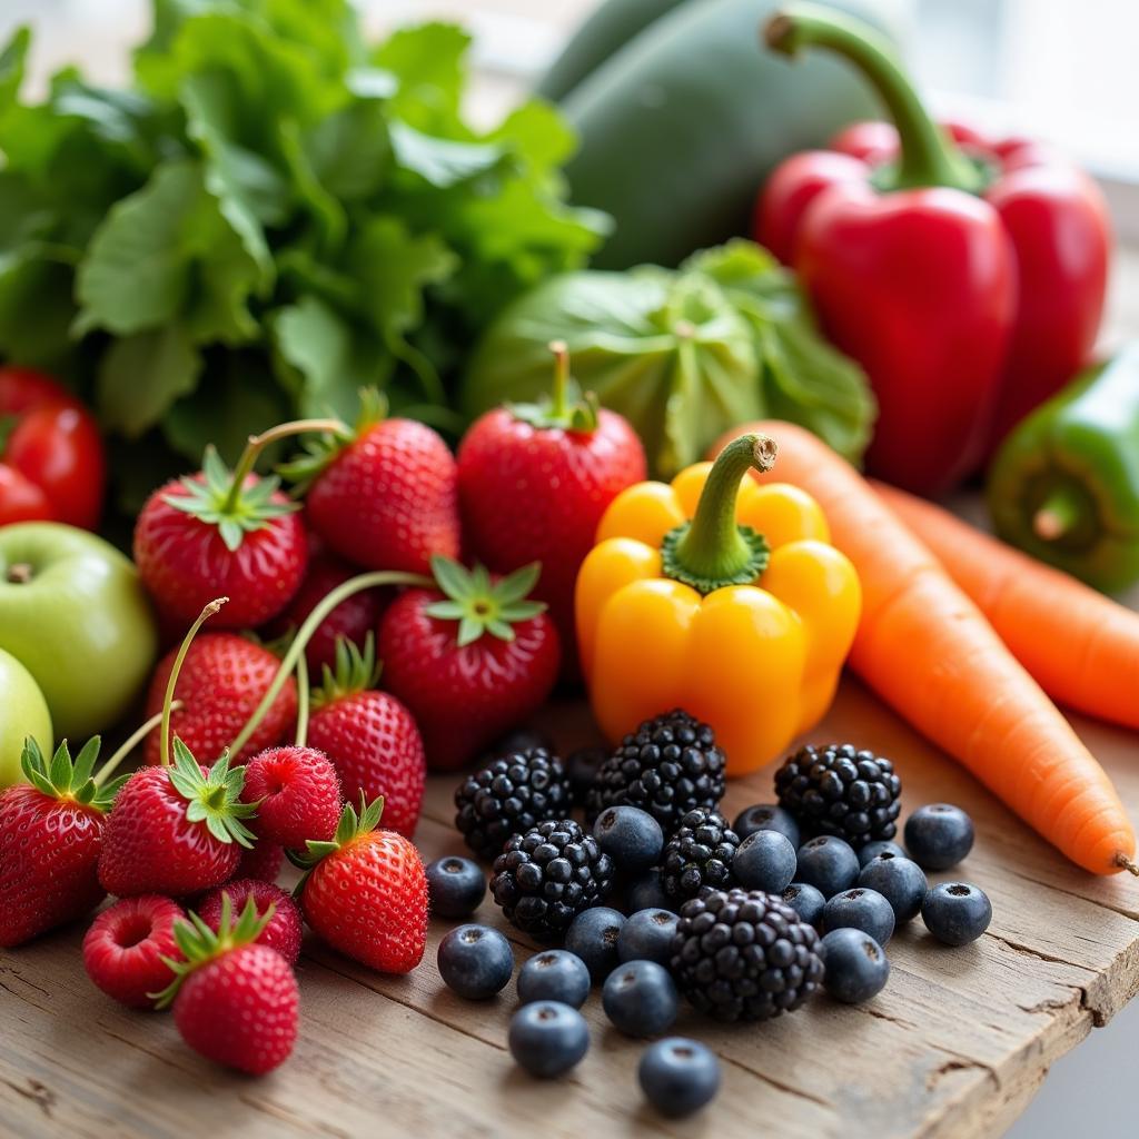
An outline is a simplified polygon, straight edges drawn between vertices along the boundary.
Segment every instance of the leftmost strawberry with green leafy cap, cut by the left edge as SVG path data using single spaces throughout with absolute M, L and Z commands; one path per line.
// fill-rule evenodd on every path
M 24 745 L 27 782 L 0 794 L 0 947 L 31 941 L 103 901 L 96 866 L 106 811 L 124 779 L 97 786 L 98 754 L 96 738 L 73 762 L 65 740 L 49 767 L 34 739 Z

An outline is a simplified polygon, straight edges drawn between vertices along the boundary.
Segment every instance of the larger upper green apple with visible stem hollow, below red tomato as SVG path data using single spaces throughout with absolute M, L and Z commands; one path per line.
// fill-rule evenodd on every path
M 130 559 L 55 522 L 0 527 L 0 648 L 32 674 L 59 738 L 118 721 L 154 666 L 158 634 Z

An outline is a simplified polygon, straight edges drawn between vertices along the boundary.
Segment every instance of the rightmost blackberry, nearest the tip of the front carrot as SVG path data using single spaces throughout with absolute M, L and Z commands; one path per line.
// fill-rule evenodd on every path
M 894 764 L 852 744 L 808 744 L 776 772 L 779 805 L 798 819 L 804 837 L 836 835 L 855 850 L 898 834 L 901 793 Z

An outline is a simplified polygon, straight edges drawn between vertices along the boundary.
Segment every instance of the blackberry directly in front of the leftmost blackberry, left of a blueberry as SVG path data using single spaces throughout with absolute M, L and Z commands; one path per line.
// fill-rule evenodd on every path
M 551 940 L 613 883 L 613 860 L 573 819 L 548 819 L 514 835 L 494 860 L 491 894 L 524 933 Z

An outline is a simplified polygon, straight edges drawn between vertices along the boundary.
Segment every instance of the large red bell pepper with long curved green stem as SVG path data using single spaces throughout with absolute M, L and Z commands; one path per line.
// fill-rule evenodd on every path
M 765 38 L 843 56 L 893 120 L 784 162 L 754 231 L 870 377 L 869 469 L 947 490 L 1085 362 L 1111 247 L 1103 197 L 1036 144 L 934 124 L 890 47 L 849 17 L 790 6 Z

